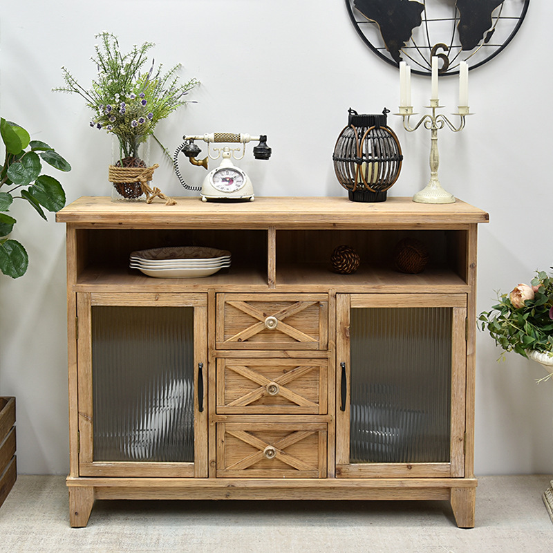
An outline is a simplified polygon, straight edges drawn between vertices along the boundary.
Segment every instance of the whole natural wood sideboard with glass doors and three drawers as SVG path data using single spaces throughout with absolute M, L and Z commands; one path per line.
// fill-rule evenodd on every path
M 478 223 L 457 201 L 112 203 L 66 223 L 72 526 L 95 499 L 447 500 L 474 526 Z M 429 250 L 419 274 L 394 248 Z M 135 250 L 230 268 L 156 279 Z M 332 271 L 353 247 L 353 274 Z

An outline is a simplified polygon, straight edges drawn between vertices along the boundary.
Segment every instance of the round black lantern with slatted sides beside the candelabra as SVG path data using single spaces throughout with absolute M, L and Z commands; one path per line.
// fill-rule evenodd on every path
M 348 126 L 334 147 L 334 170 L 353 202 L 384 202 L 386 190 L 400 176 L 402 149 L 382 115 L 359 115 L 348 109 Z

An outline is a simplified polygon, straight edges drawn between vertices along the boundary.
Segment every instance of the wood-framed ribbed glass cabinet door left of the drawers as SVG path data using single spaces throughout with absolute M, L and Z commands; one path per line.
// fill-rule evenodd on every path
M 205 294 L 78 294 L 81 476 L 207 476 Z

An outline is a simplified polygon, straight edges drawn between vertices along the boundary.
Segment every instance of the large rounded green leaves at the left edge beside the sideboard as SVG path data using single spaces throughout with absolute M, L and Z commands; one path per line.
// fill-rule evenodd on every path
M 62 209 L 64 189 L 55 178 L 41 174 L 42 161 L 59 171 L 71 171 L 71 165 L 46 142 L 30 140 L 29 133 L 16 123 L 1 118 L 0 134 L 6 147 L 0 167 L 0 271 L 17 279 L 25 274 L 29 260 L 24 246 L 8 237 L 17 221 L 6 212 L 17 198 L 28 201 L 44 219 L 44 209 Z

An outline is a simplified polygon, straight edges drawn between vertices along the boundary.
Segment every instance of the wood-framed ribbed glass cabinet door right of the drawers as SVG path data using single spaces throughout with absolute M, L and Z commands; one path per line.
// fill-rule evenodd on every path
M 463 476 L 465 294 L 338 294 L 337 476 Z

